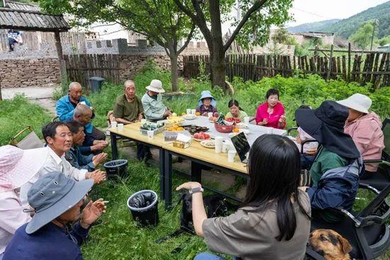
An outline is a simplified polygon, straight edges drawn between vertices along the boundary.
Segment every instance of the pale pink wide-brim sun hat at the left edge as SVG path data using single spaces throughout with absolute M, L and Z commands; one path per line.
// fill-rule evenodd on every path
M 25 150 L 12 145 L 0 147 L 0 193 L 27 183 L 42 168 L 48 152 L 48 147 Z

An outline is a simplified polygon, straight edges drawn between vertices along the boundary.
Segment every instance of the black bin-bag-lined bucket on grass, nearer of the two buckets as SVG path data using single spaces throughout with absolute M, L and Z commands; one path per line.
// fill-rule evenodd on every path
M 128 198 L 127 205 L 133 220 L 141 226 L 158 225 L 158 200 L 154 191 L 143 190 L 134 193 Z

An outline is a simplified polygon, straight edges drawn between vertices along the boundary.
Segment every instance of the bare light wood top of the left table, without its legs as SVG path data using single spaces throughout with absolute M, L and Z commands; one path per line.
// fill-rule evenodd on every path
M 137 140 L 140 142 L 144 142 L 150 145 L 153 145 L 155 147 L 162 147 L 163 145 L 166 144 L 164 141 L 164 136 L 162 133 L 159 133 L 153 137 L 152 140 L 149 140 L 146 135 L 143 135 L 140 132 L 140 122 L 137 123 L 132 123 L 128 125 L 123 126 L 123 130 L 118 130 L 118 128 L 108 128 L 108 131 L 113 132 L 117 135 L 122 135 L 124 137 L 128 137 L 132 140 Z

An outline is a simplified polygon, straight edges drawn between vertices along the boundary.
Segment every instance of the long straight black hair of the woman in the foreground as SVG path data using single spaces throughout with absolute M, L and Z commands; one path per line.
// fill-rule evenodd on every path
M 280 234 L 275 238 L 279 241 L 290 240 L 296 230 L 291 198 L 294 198 L 300 210 L 310 218 L 298 196 L 301 174 L 298 148 L 287 137 L 262 135 L 250 149 L 248 171 L 250 182 L 243 206 L 267 210 L 276 203 Z

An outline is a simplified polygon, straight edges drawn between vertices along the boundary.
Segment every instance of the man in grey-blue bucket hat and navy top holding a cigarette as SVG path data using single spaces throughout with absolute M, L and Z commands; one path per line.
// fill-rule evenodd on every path
M 89 227 L 103 213 L 103 199 L 89 201 L 85 196 L 92 180 L 74 181 L 60 172 L 46 174 L 28 191 L 33 208 L 30 222 L 16 230 L 3 260 L 83 259 L 79 246 Z M 87 203 L 84 210 L 82 205 Z M 67 224 L 75 222 L 69 232 Z

